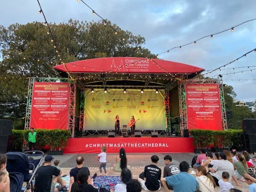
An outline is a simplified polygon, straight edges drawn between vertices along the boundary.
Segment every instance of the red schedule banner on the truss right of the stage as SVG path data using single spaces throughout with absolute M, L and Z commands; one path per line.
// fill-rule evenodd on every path
M 189 129 L 223 130 L 218 84 L 186 84 Z

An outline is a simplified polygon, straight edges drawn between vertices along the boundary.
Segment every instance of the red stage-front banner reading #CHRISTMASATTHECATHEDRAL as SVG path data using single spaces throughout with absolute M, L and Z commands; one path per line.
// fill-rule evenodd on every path
M 127 153 L 177 153 L 193 152 L 195 146 L 190 137 L 78 137 L 70 138 L 64 153 L 100 153 L 105 145 L 107 152 L 117 153 L 125 148 Z

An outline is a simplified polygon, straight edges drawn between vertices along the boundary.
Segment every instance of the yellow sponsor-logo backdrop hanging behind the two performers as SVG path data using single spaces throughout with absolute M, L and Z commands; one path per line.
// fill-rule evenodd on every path
M 131 116 L 139 119 L 136 130 L 165 130 L 164 90 L 110 90 L 94 89 L 84 93 L 85 130 L 114 130 L 115 117 L 119 115 L 120 128 L 128 125 Z M 128 128 L 128 126 L 127 126 Z

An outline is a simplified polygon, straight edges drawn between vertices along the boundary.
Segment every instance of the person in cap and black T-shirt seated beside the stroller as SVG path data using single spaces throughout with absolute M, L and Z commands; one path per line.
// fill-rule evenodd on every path
M 35 175 L 35 192 L 54 192 L 55 184 L 61 184 L 56 191 L 67 191 L 60 176 L 60 170 L 52 165 L 52 155 L 44 157 L 44 165 L 40 166 Z

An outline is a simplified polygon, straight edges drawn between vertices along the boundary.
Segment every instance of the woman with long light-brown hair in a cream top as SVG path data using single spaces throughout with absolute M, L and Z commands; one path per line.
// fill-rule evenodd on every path
M 198 181 L 198 189 L 203 192 L 215 192 L 216 183 L 211 175 L 207 174 L 203 166 L 196 168 L 196 180 Z

